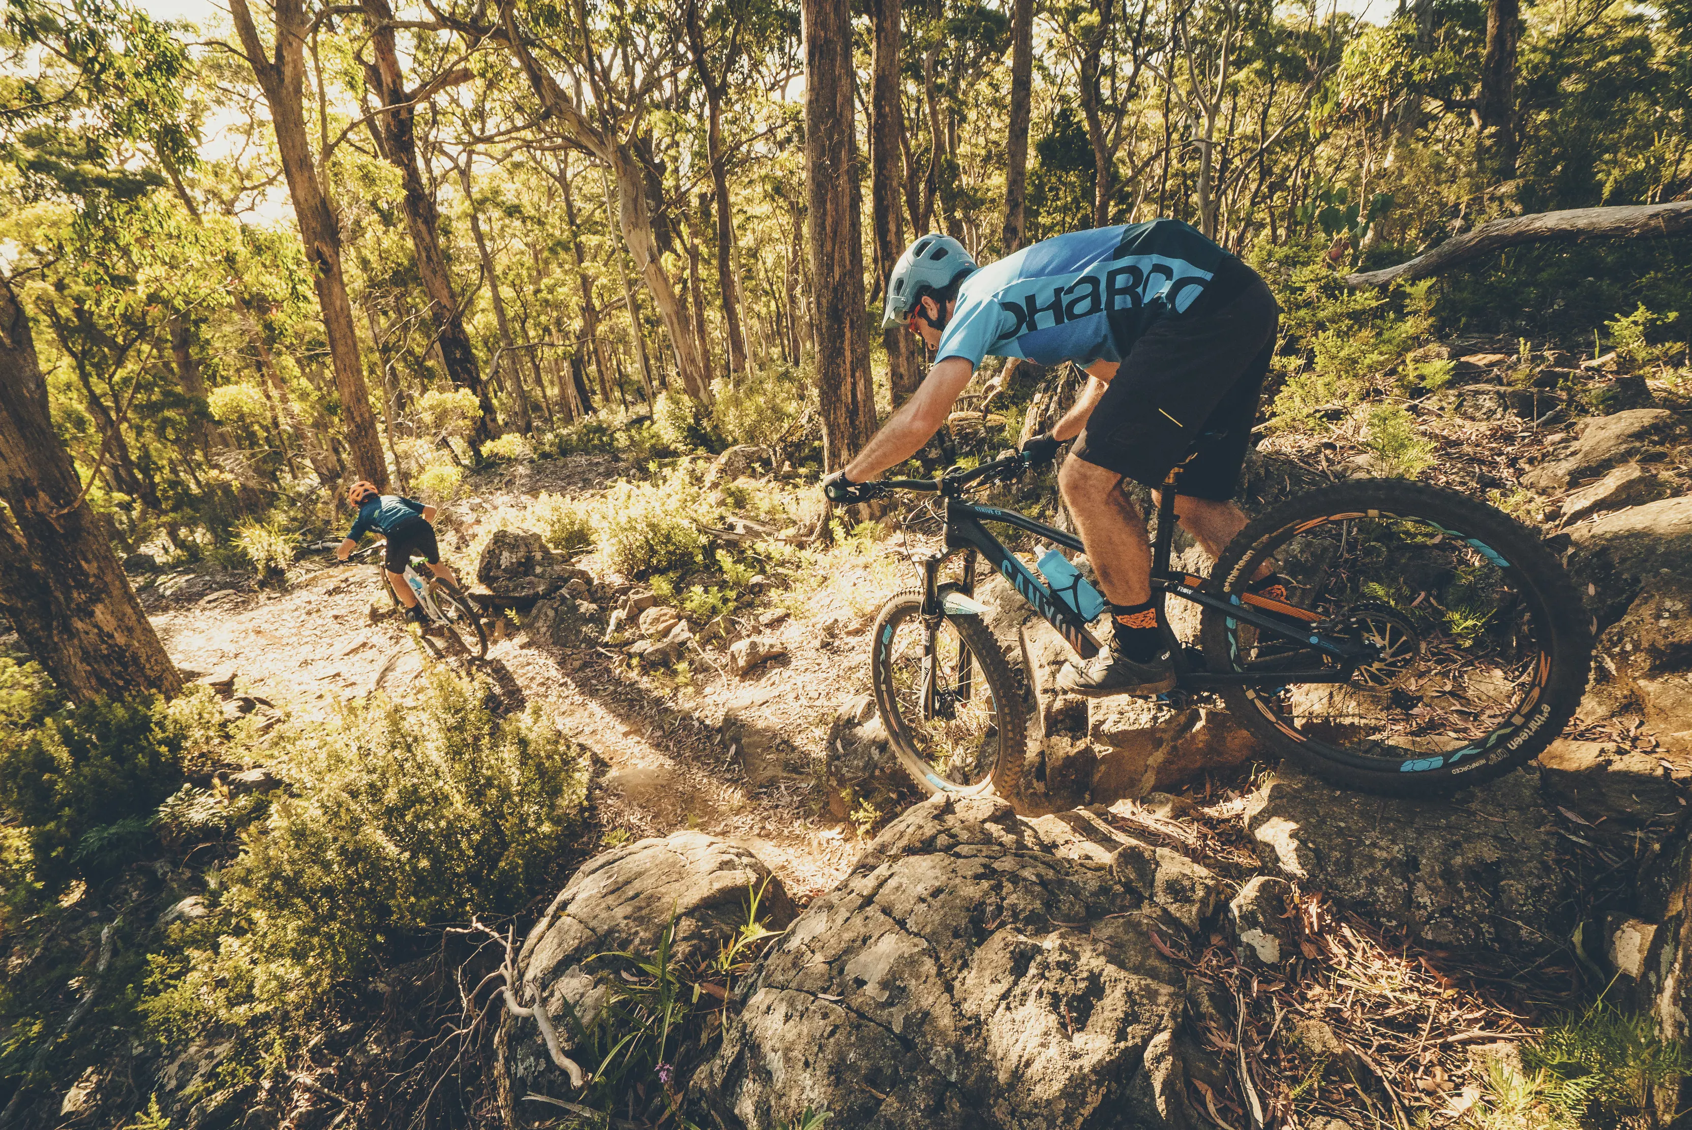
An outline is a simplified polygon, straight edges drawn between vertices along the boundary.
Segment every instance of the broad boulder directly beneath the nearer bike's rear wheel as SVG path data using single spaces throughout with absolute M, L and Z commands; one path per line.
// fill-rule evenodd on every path
M 1335 788 L 1283 765 L 1245 827 L 1271 873 L 1435 949 L 1538 957 L 1568 937 L 1568 868 L 1518 770 L 1453 797 L 1399 800 Z

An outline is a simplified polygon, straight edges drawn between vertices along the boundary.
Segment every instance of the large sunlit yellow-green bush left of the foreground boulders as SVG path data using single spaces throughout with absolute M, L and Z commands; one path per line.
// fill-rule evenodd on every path
M 580 853 L 584 753 L 538 705 L 501 719 L 443 668 L 404 704 L 284 724 L 271 761 L 293 795 L 222 871 L 220 919 L 154 961 L 159 1034 L 279 1022 L 430 927 L 521 910 Z

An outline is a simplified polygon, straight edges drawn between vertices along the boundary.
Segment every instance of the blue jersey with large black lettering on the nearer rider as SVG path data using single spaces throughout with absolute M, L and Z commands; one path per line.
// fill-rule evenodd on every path
M 934 360 L 1120 362 L 1154 321 L 1191 308 L 1223 257 L 1181 220 L 1054 235 L 959 284 Z

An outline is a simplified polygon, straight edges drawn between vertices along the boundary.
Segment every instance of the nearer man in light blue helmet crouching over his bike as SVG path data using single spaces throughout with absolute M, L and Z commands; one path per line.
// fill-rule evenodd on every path
M 924 235 L 893 264 L 882 325 L 905 325 L 934 350 L 934 364 L 856 458 L 824 479 L 824 492 L 863 501 L 868 479 L 915 455 L 946 423 L 985 355 L 1074 362 L 1088 374 L 1085 391 L 1022 453 L 1030 465 L 1049 464 L 1081 433 L 1058 487 L 1115 631 L 1108 650 L 1071 661 L 1058 685 L 1086 697 L 1169 690 L 1174 660 L 1151 599 L 1145 519 L 1122 480 L 1152 487 L 1156 501 L 1169 469 L 1205 436 L 1184 460 L 1176 514 L 1220 557 L 1245 526 L 1230 499 L 1279 313 L 1257 272 L 1179 220 L 1054 235 L 986 267 L 956 239 Z M 1284 595 L 1267 563 L 1252 585 Z

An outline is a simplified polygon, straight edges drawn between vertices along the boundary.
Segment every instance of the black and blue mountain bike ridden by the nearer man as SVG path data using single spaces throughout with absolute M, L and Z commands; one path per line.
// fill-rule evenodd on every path
M 1081 540 L 970 499 L 1022 467 L 1005 453 L 937 479 L 868 484 L 873 497 L 939 496 L 931 506 L 942 543 L 912 555 L 922 584 L 882 607 L 870 656 L 892 749 L 931 793 L 1014 795 L 1024 768 L 1029 704 L 975 599 L 978 562 L 1076 655 L 1103 646 L 1081 611 L 1098 594 L 1042 577 L 985 523 L 1063 550 L 1081 550 Z M 1574 716 L 1590 668 L 1590 617 L 1558 560 L 1509 516 L 1423 484 L 1350 480 L 1257 516 L 1200 577 L 1169 567 L 1178 492 L 1179 469 L 1161 491 L 1151 577 L 1176 661 L 1171 700 L 1218 695 L 1266 753 L 1394 795 L 1499 776 Z M 958 557 L 961 570 L 942 575 Z M 1047 572 L 1074 572 L 1058 560 L 1044 558 Z M 1284 601 L 1249 592 L 1266 563 L 1289 579 Z M 1201 606 L 1198 648 L 1171 631 L 1169 597 Z M 1020 658 L 1032 678 L 1025 641 Z

